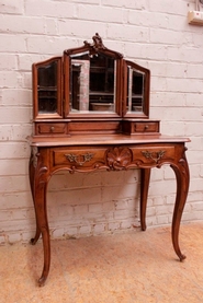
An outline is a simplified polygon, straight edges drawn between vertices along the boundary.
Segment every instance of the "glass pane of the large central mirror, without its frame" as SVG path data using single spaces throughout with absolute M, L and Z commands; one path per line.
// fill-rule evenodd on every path
M 70 57 L 70 112 L 114 112 L 116 61 L 89 51 Z

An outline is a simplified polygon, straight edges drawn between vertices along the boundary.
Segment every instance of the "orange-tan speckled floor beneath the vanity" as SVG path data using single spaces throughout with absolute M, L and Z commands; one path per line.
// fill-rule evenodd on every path
M 203 302 L 203 223 L 182 224 L 173 252 L 170 228 L 52 241 L 45 287 L 42 243 L 0 246 L 0 303 Z

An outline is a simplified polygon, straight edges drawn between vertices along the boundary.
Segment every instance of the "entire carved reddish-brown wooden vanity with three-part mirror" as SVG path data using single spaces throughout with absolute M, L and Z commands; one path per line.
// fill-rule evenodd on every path
M 172 244 L 180 260 L 179 228 L 189 189 L 185 142 L 159 132 L 149 119 L 148 69 L 93 42 L 33 65 L 33 127 L 30 182 L 36 214 L 35 244 L 43 238 L 43 285 L 50 266 L 46 191 L 59 170 L 93 172 L 140 168 L 140 228 L 145 217 L 150 168 L 169 164 L 177 178 Z M 136 254 L 136 252 L 135 252 Z

